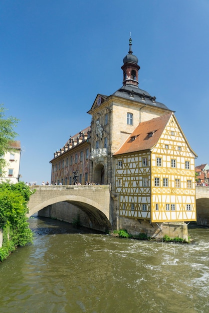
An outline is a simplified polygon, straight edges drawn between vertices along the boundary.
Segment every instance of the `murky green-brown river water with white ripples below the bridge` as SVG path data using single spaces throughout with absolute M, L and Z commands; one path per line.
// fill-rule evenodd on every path
M 138 241 L 30 218 L 34 244 L 0 264 L 0 312 L 209 312 L 208 228 L 191 244 Z

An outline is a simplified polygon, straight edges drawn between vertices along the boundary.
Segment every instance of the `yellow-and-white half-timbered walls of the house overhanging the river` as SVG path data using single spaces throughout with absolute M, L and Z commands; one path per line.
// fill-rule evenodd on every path
M 150 149 L 116 155 L 119 215 L 150 222 L 196 220 L 195 156 L 174 114 Z

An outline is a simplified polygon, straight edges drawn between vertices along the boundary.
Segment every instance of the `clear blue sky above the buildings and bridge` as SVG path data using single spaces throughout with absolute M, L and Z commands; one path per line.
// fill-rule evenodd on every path
M 175 111 L 209 163 L 208 0 L 1 0 L 0 101 L 20 119 L 21 180 L 50 180 L 54 151 L 122 86 L 129 33 L 139 87 Z

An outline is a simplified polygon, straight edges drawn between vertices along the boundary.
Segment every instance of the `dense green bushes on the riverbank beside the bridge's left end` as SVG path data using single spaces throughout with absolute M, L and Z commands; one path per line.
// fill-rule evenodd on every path
M 0 261 L 6 259 L 16 247 L 33 241 L 33 232 L 27 221 L 27 203 L 32 193 L 24 182 L 0 183 L 0 228 L 3 231 Z

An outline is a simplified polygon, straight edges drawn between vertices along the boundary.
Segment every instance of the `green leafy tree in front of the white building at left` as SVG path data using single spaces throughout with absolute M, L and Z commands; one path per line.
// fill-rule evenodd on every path
M 19 119 L 13 116 L 5 118 L 6 108 L 0 104 L 0 172 L 4 172 L 6 160 L 4 159 L 5 153 L 12 151 L 11 141 L 14 141 L 18 133 L 14 131 Z

